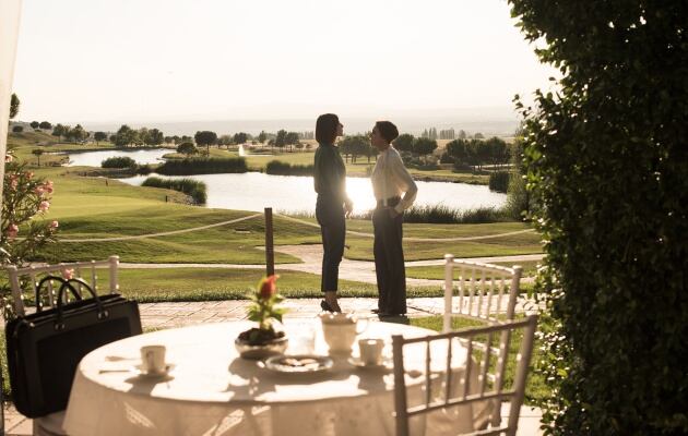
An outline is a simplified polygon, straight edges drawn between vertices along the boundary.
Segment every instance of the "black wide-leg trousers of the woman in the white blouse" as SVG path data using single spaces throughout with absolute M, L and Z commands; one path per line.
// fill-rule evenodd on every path
M 406 313 L 406 270 L 402 247 L 403 214 L 392 218 L 389 209 L 372 213 L 375 272 L 378 277 L 378 308 L 388 314 Z

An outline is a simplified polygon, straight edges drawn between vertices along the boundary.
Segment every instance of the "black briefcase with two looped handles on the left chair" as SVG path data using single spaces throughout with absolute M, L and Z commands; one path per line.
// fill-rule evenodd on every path
M 21 316 L 5 326 L 8 367 L 12 400 L 28 417 L 44 416 L 67 409 L 76 366 L 92 350 L 118 339 L 141 334 L 139 305 L 120 294 L 96 295 L 80 279 L 44 278 L 61 282 L 57 306 Z M 92 298 L 81 299 L 79 283 Z M 70 291 L 76 301 L 63 303 Z

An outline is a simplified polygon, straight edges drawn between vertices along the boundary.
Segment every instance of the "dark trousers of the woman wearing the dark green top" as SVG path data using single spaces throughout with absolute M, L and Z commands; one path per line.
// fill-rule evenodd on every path
M 322 278 L 320 290 L 336 291 L 340 276 L 340 263 L 344 255 L 344 202 L 318 195 L 316 218 L 322 235 Z

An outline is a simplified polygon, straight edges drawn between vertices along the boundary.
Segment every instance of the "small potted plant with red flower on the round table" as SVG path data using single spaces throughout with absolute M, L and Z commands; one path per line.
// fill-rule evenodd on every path
M 277 292 L 276 280 L 280 276 L 263 278 L 258 283 L 258 289 L 249 296 L 251 304 L 248 307 L 248 317 L 257 322 L 258 327 L 252 327 L 239 334 L 235 340 L 237 351 L 245 359 L 264 359 L 270 355 L 282 354 L 287 347 L 287 338 L 284 331 L 276 331 L 273 322 L 282 322 L 285 308 L 277 307 L 284 298 Z

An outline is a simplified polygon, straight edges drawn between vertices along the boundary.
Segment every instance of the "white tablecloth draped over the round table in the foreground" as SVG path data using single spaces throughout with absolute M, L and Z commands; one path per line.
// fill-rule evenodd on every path
M 321 374 L 274 374 L 240 359 L 234 348 L 237 335 L 251 326 L 237 322 L 161 330 L 91 352 L 76 371 L 66 432 L 72 436 L 394 435 L 391 371 L 356 368 L 346 359 L 335 359 L 334 367 Z M 327 354 L 318 319 L 285 324 L 287 336 L 304 329 L 317 331 L 316 352 Z M 360 337 L 391 339 L 394 334 L 416 337 L 431 331 L 372 322 Z M 442 343 L 432 350 L 437 371 L 446 365 Z M 140 363 L 139 350 L 146 344 L 166 346 L 167 361 L 175 364 L 171 377 L 156 380 L 127 371 Z M 408 385 L 414 386 L 411 403 L 425 398 L 425 377 L 419 375 L 425 371 L 425 346 L 419 347 L 410 346 L 404 354 Z M 465 352 L 452 354 L 456 367 L 452 379 L 459 383 Z M 477 372 L 472 373 L 470 386 L 475 387 Z M 439 383 L 434 389 L 438 396 Z M 440 434 L 446 426 L 471 429 L 474 416 L 484 413 L 474 409 L 436 413 L 427 425 L 418 420 L 412 426 L 416 434 Z

